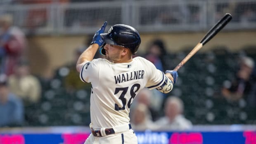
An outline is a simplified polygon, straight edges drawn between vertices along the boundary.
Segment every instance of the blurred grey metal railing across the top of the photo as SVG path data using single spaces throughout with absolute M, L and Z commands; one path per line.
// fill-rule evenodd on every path
M 10 13 L 14 25 L 27 34 L 91 34 L 104 21 L 108 27 L 128 24 L 140 32 L 206 31 L 230 13 L 224 30 L 256 29 L 256 0 L 126 0 L 5 5 L 0 14 Z

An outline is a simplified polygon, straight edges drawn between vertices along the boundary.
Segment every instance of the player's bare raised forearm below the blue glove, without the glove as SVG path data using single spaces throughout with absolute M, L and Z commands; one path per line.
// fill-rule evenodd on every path
M 76 70 L 78 72 L 81 71 L 81 68 L 83 67 L 83 64 L 92 61 L 93 57 L 95 56 L 97 50 L 99 48 L 99 45 L 94 43 L 90 45 L 78 58 L 77 63 L 76 63 Z

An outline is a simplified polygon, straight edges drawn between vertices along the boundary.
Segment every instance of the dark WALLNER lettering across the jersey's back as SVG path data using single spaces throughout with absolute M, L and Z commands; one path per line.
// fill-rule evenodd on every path
M 115 77 L 115 82 L 117 84 L 117 83 L 123 83 L 130 80 L 142 79 L 143 76 L 144 76 L 144 70 L 139 70 L 139 71 L 132 71 L 129 73 L 122 73 L 114 77 Z

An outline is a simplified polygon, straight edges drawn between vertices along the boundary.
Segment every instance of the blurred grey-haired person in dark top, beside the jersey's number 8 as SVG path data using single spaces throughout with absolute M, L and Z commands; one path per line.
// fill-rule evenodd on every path
M 154 101 L 152 101 L 153 93 L 151 90 L 144 88 L 137 94 L 137 99 L 135 99 L 135 103 L 137 104 L 145 104 L 149 110 L 150 119 L 152 121 L 155 121 L 159 118 L 159 112 L 155 109 L 155 104 L 157 104 Z

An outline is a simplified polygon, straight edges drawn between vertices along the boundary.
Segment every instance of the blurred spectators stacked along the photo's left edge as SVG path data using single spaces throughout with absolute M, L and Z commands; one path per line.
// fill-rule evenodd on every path
M 30 73 L 26 35 L 12 22 L 12 15 L 0 16 L 0 126 L 23 125 L 25 108 L 41 97 L 40 81 Z

